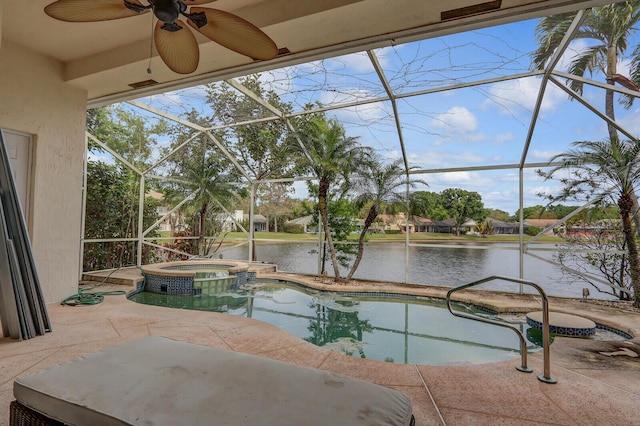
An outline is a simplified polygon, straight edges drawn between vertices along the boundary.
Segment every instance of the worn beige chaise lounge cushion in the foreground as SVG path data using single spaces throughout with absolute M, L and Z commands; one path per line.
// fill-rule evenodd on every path
M 337 375 L 162 337 L 16 379 L 14 395 L 74 425 L 409 425 L 410 399 Z

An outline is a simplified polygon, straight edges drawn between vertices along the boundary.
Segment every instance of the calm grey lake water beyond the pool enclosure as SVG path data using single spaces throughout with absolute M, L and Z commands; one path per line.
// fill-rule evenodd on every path
M 482 247 L 481 249 L 473 247 Z M 518 245 L 514 243 L 474 243 L 467 247 L 440 243 L 438 247 L 409 247 L 409 279 L 412 284 L 432 284 L 455 287 L 492 275 L 519 277 Z M 529 251 L 551 259 L 554 244 L 531 245 Z M 275 263 L 278 270 L 302 274 L 318 273 L 318 244 L 314 242 L 259 243 L 257 258 Z M 225 259 L 247 259 L 247 246 L 221 250 Z M 327 253 L 326 269 L 333 275 Z M 341 273 L 348 271 L 341 268 Z M 354 276 L 388 282 L 405 282 L 405 245 L 403 243 L 369 243 L 365 247 L 360 266 Z M 598 293 L 585 282 L 571 282 L 560 270 L 545 261 L 524 256 L 524 279 L 540 285 L 549 296 L 582 297 L 582 289 L 589 287 L 592 298 L 612 299 Z M 477 288 L 518 291 L 517 284 L 493 282 Z M 535 292 L 525 287 L 527 293 Z

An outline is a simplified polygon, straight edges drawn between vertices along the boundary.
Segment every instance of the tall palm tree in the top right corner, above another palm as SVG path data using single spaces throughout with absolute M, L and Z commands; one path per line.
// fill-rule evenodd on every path
M 543 18 L 536 27 L 536 37 L 540 46 L 532 54 L 535 68 L 544 69 L 556 48 L 560 45 L 575 13 L 565 13 Z M 569 73 L 584 77 L 586 73 L 601 72 L 608 84 L 616 83 L 638 90 L 640 82 L 640 48 L 636 48 L 631 58 L 632 79 L 618 74 L 618 62 L 628 47 L 631 34 L 640 21 L 640 0 L 613 3 L 593 8 L 585 17 L 581 27 L 575 33 L 575 39 L 588 42 L 581 52 L 569 64 Z M 583 82 L 570 80 L 569 87 L 582 94 Z M 622 95 L 621 102 L 631 107 L 634 97 Z M 606 90 L 605 114 L 615 120 L 614 91 Z M 618 137 L 617 130 L 608 124 L 609 138 Z

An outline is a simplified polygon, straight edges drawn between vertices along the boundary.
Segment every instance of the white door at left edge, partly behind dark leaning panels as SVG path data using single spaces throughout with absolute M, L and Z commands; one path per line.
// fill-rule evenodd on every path
M 29 170 L 31 166 L 31 137 L 10 130 L 2 131 L 9 154 L 11 174 L 18 191 L 22 215 L 25 223 L 29 217 Z

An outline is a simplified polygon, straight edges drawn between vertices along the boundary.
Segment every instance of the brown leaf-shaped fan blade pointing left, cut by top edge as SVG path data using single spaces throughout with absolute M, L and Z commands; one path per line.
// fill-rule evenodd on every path
M 127 0 L 134 6 L 144 8 L 139 0 Z M 128 18 L 149 12 L 136 12 L 127 8 L 124 0 L 58 0 L 45 6 L 44 12 L 54 19 L 66 22 L 96 22 Z

